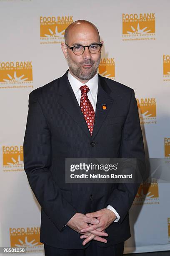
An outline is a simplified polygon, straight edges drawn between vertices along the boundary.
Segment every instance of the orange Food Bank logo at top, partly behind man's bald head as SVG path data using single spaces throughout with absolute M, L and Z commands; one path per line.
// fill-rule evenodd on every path
M 40 43 L 60 44 L 64 41 L 65 29 L 72 22 L 72 16 L 40 16 Z

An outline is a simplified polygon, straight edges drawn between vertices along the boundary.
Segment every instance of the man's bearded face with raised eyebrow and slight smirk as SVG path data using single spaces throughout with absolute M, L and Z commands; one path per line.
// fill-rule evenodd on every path
M 88 24 L 81 24 L 73 27 L 67 37 L 67 45 L 75 46 L 81 44 L 82 46 L 90 44 L 99 44 L 98 33 L 92 26 Z M 103 42 L 101 42 L 103 43 Z M 72 49 L 65 48 L 65 57 L 67 58 L 70 72 L 80 80 L 89 80 L 96 73 L 100 64 L 101 49 L 98 53 L 90 53 L 88 47 L 85 47 L 85 51 L 81 55 L 75 55 Z

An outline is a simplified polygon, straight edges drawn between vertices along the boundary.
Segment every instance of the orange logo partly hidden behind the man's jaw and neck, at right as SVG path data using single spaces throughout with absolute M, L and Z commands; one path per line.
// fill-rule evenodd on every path
M 115 79 L 115 61 L 114 58 L 100 59 L 99 74 L 103 77 Z

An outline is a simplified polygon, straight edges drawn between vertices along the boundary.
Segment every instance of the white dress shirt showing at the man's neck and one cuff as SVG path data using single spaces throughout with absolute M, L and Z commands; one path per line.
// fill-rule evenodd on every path
M 80 98 L 81 98 L 81 91 L 80 91 L 80 87 L 82 85 L 87 85 L 89 87 L 89 91 L 87 92 L 87 96 L 88 99 L 90 100 L 92 107 L 95 111 L 96 109 L 96 102 L 97 102 L 97 90 L 98 90 L 98 74 L 96 73 L 94 77 L 92 77 L 87 83 L 82 84 L 78 79 L 76 79 L 75 77 L 73 77 L 73 75 L 70 73 L 70 71 L 68 71 L 68 80 L 71 84 L 72 90 L 75 94 L 75 97 L 79 103 L 80 106 Z M 115 222 L 120 220 L 120 215 L 117 213 L 117 211 L 111 206 L 108 205 L 107 209 L 112 210 L 112 212 L 115 213 L 115 215 L 117 216 L 117 218 L 114 220 Z

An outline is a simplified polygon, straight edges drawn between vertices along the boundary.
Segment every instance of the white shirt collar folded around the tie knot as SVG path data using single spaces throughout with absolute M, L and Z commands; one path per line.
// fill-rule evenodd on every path
M 82 84 L 77 78 L 73 77 L 73 75 L 68 71 L 68 80 L 71 84 L 73 92 L 76 94 L 77 91 L 80 89 L 82 85 L 87 85 L 92 93 L 92 95 L 95 97 L 97 94 L 97 89 L 98 89 L 98 73 L 95 74 L 94 77 L 92 77 L 87 83 Z

